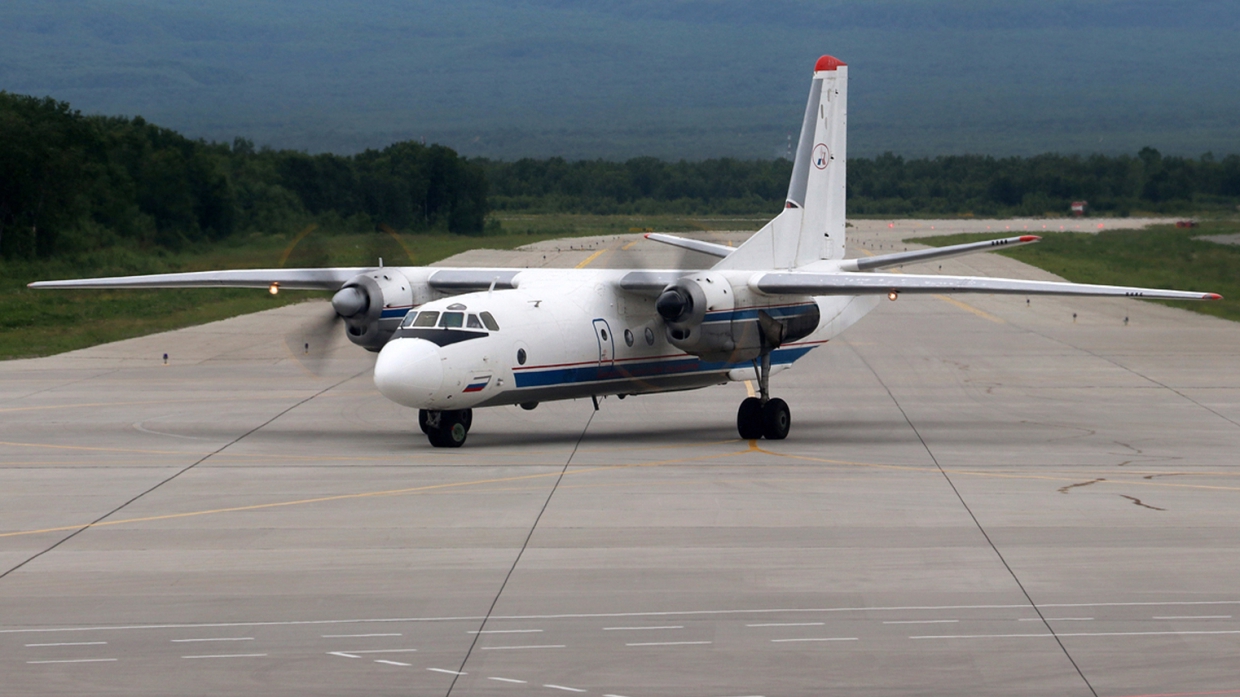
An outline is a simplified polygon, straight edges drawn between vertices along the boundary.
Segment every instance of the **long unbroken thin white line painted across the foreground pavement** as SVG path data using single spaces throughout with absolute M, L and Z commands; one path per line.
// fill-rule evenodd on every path
M 1189 605 L 1240 605 L 1240 600 L 1168 600 L 1168 602 L 1142 602 L 1142 603 L 1049 603 L 1038 608 L 1157 608 L 1157 606 L 1189 606 Z M 666 616 L 708 616 L 708 615 L 756 615 L 756 614 L 792 614 L 792 613 L 885 613 L 885 611 L 913 611 L 913 610 L 1011 610 L 1028 609 L 1029 604 L 1004 604 L 1004 605 L 893 605 L 878 608 L 768 608 L 754 610 L 665 610 L 650 613 L 577 613 L 559 615 L 497 615 L 484 618 L 482 615 L 443 616 L 443 618 L 371 618 L 371 619 L 346 619 L 346 620 L 284 620 L 284 621 L 252 621 L 252 623 L 200 623 L 200 624 L 138 624 L 138 625 L 98 625 L 98 626 L 61 626 L 40 629 L 0 629 L 0 634 L 31 634 L 53 631 L 119 631 L 143 629 L 210 629 L 228 626 L 314 626 L 332 624 L 376 624 L 376 623 L 443 623 L 466 620 L 564 620 L 564 619 L 603 619 L 603 618 L 666 618 Z

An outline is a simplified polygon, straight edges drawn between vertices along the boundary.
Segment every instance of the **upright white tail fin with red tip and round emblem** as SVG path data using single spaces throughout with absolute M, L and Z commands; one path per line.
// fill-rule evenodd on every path
M 784 212 L 715 264 L 718 269 L 794 269 L 844 255 L 848 66 L 818 58 Z

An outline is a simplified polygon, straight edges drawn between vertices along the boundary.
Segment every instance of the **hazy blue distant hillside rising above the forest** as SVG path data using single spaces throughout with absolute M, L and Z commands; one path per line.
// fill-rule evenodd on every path
M 849 154 L 1233 151 L 1218 0 L 5 0 L 0 89 L 312 153 L 773 158 L 821 53 Z

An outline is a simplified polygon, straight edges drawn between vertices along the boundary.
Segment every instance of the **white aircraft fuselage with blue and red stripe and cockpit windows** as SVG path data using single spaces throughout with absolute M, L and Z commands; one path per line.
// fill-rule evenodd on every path
M 466 322 L 402 326 L 379 352 L 374 383 L 383 396 L 407 407 L 467 409 L 694 389 L 755 377 L 749 357 L 702 358 L 671 345 L 653 298 L 619 286 L 626 273 L 528 269 L 520 273 L 515 289 L 425 303 L 410 314 L 438 313 L 439 325 L 445 313 L 464 317 L 489 313 L 498 329 L 475 319 L 467 322 L 472 327 Z M 734 303 L 707 313 L 706 325 L 756 321 L 758 310 L 820 316 L 808 336 L 771 352 L 773 371 L 791 366 L 878 304 L 874 296 L 765 296 L 749 290 L 748 272 L 727 275 Z M 410 316 L 404 324 L 417 320 Z

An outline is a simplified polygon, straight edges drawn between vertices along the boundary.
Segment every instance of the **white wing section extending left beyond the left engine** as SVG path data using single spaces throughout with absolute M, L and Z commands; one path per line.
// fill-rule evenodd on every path
M 339 290 L 348 279 L 367 272 L 366 268 L 332 269 L 234 269 L 224 272 L 188 272 L 149 275 L 118 275 L 110 278 L 79 278 L 73 280 L 38 280 L 27 288 L 268 288 Z

